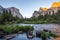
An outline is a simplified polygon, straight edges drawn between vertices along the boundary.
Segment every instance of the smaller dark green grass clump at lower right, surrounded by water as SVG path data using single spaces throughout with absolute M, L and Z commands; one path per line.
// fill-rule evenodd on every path
M 40 35 L 40 36 L 39 36 Z M 42 31 L 38 34 L 39 38 L 56 38 L 58 37 L 58 35 L 56 35 L 55 33 L 51 32 L 51 31 Z

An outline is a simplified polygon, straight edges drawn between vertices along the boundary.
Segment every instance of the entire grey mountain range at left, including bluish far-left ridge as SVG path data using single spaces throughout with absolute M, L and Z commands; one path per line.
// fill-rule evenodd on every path
M 0 5 L 0 13 L 3 13 L 3 10 L 7 10 L 8 12 L 11 11 L 11 14 L 14 16 L 14 17 L 19 17 L 19 18 L 23 18 L 22 14 L 19 12 L 19 9 L 15 8 L 15 7 L 9 7 L 9 8 L 3 8 L 1 5 Z

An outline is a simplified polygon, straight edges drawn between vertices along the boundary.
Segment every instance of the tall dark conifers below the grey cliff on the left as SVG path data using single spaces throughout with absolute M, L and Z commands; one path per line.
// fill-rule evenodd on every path
M 0 24 L 8 24 L 11 22 L 21 22 L 20 18 L 18 18 L 17 16 L 13 16 L 11 14 L 11 11 L 9 10 L 9 12 L 7 10 L 3 10 L 2 13 L 0 13 Z

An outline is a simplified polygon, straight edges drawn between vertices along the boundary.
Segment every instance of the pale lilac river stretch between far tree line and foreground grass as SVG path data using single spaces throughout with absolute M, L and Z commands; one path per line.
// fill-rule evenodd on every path
M 60 32 L 60 24 L 19 24 L 20 26 L 33 26 L 35 31 L 44 29 Z

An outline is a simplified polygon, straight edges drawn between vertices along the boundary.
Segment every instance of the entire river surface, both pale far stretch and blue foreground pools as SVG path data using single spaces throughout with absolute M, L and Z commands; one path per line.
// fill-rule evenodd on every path
M 43 29 L 52 30 L 54 32 L 60 32 L 59 24 L 18 24 L 20 26 L 33 26 L 35 31 L 42 31 Z M 0 39 L 5 40 L 5 39 Z M 33 39 L 28 39 L 26 34 L 19 34 L 17 37 L 11 40 L 42 40 L 41 38 L 34 37 Z M 48 40 L 54 40 L 52 37 Z

